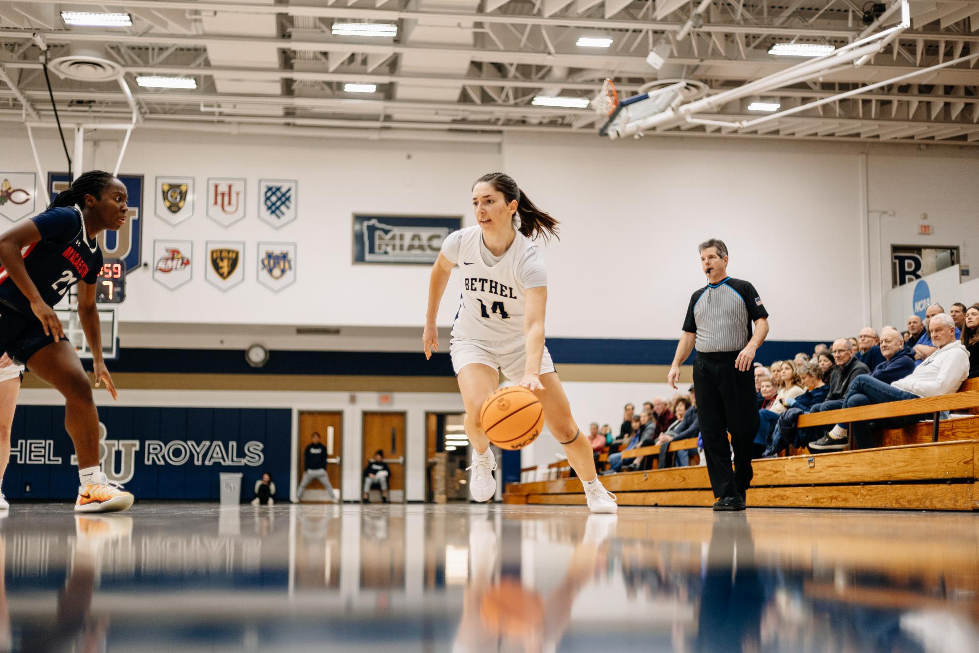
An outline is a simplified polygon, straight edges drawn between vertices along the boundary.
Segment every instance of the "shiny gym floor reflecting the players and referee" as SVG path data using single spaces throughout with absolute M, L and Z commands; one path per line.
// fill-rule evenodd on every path
M 22 503 L 0 561 L 0 650 L 979 646 L 968 513 Z

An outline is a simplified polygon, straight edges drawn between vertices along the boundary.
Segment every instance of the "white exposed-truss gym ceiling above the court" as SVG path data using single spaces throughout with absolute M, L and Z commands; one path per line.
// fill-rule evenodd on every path
M 869 5 L 866 5 L 869 7 Z M 0 1 L 0 120 L 53 121 L 32 34 L 49 57 L 112 62 L 136 75 L 193 77 L 197 88 L 138 89 L 141 124 L 186 130 L 350 135 L 402 132 L 461 140 L 507 131 L 594 134 L 589 109 L 542 107 L 536 96 L 589 98 L 605 77 L 630 95 L 658 74 L 711 94 L 784 70 L 775 43 L 840 47 L 897 21 L 864 24 L 856 0 L 130 0 Z M 911 0 L 911 28 L 858 69 L 732 102 L 698 117 L 737 121 L 751 100 L 783 109 L 979 52 L 979 0 Z M 71 27 L 60 12 L 128 13 L 125 28 Z M 397 36 L 335 36 L 334 22 L 396 23 Z M 609 48 L 576 45 L 612 39 Z M 653 48 L 667 55 L 657 72 Z M 754 128 L 690 123 L 664 133 L 979 145 L 979 66 L 933 70 Z M 116 82 L 53 75 L 63 121 L 124 122 Z M 376 84 L 372 94 L 345 84 Z

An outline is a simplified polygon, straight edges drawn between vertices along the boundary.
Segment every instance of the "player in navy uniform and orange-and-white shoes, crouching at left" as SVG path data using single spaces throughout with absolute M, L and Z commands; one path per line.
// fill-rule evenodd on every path
M 108 172 L 75 179 L 48 210 L 0 235 L 0 349 L 65 396 L 65 428 L 74 443 L 80 481 L 74 509 L 112 512 L 132 494 L 109 483 L 99 467 L 99 417 L 92 387 L 54 305 L 75 284 L 78 318 L 89 343 L 101 343 L 95 283 L 102 268 L 96 237 L 125 224 L 125 186 Z M 117 398 L 102 351 L 92 350 L 95 385 Z

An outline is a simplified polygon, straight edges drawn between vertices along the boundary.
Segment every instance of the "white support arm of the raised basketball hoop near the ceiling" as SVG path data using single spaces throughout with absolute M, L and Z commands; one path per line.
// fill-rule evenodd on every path
M 807 109 L 813 109 L 815 107 L 821 106 L 828 102 L 833 102 L 836 100 L 842 100 L 847 97 L 858 95 L 860 93 L 865 93 L 867 91 L 879 88 L 885 84 L 895 83 L 898 80 L 907 79 L 909 77 L 922 74 L 930 70 L 938 70 L 941 68 L 947 68 L 957 63 L 963 61 L 969 61 L 979 57 L 977 55 L 971 55 L 968 57 L 961 57 L 951 62 L 945 64 L 940 64 L 938 66 L 933 66 L 927 69 L 915 70 L 900 77 L 895 77 L 893 79 L 888 79 L 887 81 L 878 82 L 870 86 L 862 86 L 861 88 L 854 89 L 852 91 L 847 91 L 846 93 L 841 93 L 830 98 L 825 98 L 816 102 L 812 102 L 806 105 L 795 107 L 792 109 L 787 109 L 776 114 L 771 114 L 769 116 L 756 118 L 754 120 L 739 120 L 739 121 L 723 121 L 723 120 L 706 120 L 702 118 L 694 117 L 696 114 L 716 110 L 723 105 L 733 102 L 735 100 L 740 100 L 742 98 L 759 95 L 762 93 L 767 93 L 769 91 L 787 86 L 789 84 L 797 84 L 803 81 L 815 77 L 821 77 L 832 72 L 837 72 L 840 70 L 847 70 L 850 68 L 859 68 L 871 57 L 881 52 L 891 41 L 896 39 L 903 31 L 910 26 L 910 10 L 908 0 L 899 0 L 896 2 L 890 10 L 889 13 L 893 13 L 900 8 L 901 10 L 901 23 L 894 27 L 885 29 L 884 31 L 877 32 L 838 48 L 833 52 L 827 53 L 825 55 L 815 57 L 811 60 L 797 64 L 786 70 L 781 70 L 773 74 L 769 74 L 767 77 L 757 79 L 755 81 L 749 82 L 738 88 L 732 88 L 727 91 L 718 93 L 717 95 L 712 95 L 710 97 L 703 98 L 701 100 L 695 100 L 693 102 L 681 105 L 676 109 L 669 109 L 661 114 L 656 114 L 650 117 L 644 117 L 634 122 L 629 122 L 619 129 L 610 130 L 608 135 L 609 138 L 622 138 L 625 136 L 631 136 L 633 134 L 642 133 L 648 129 L 670 129 L 672 127 L 679 126 L 685 123 L 693 124 L 711 124 L 724 127 L 735 127 L 743 128 L 746 126 L 751 126 L 752 124 L 757 124 L 758 122 L 772 120 L 778 117 L 789 116 L 792 114 L 797 114 L 799 112 L 805 111 Z M 885 17 L 881 16 L 880 20 Z

